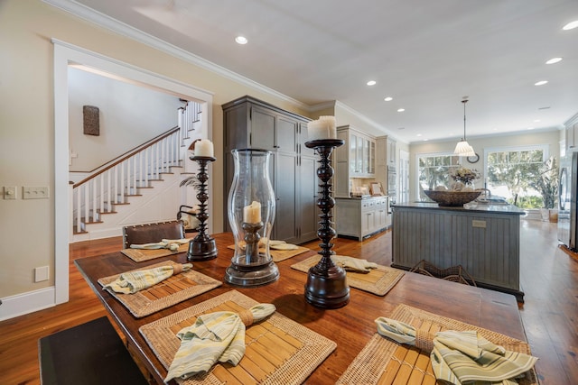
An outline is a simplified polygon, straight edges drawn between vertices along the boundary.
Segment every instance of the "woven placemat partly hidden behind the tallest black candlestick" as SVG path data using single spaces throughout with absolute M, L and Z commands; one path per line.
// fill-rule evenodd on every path
M 294 270 L 309 272 L 312 266 L 315 266 L 321 255 L 313 255 L 306 260 L 291 265 Z M 406 274 L 404 270 L 389 268 L 378 265 L 377 269 L 372 269 L 368 273 L 347 271 L 347 283 L 351 288 L 368 291 L 378 296 L 385 296 L 387 291 L 396 286 L 396 283 Z

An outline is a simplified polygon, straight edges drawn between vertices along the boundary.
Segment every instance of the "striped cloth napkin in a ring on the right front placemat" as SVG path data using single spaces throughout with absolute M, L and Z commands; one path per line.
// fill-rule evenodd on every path
M 415 331 L 414 326 L 383 316 L 376 319 L 376 324 L 379 335 L 387 336 L 400 344 L 422 347 L 420 340 L 424 337 Z M 431 348 L 430 359 L 435 378 L 456 385 L 475 381 L 516 384 L 515 379 L 532 369 L 537 361 L 537 358 L 531 355 L 510 352 L 502 346 L 492 344 L 475 330 L 437 332 L 432 341 L 424 344 Z

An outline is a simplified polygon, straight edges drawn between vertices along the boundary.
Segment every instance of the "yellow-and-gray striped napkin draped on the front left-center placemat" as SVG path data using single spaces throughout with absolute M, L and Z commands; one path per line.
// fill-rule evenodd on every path
M 181 346 L 164 381 L 209 371 L 216 362 L 237 365 L 245 354 L 245 327 L 273 312 L 275 305 L 259 304 L 243 313 L 219 311 L 198 316 L 194 325 L 177 333 Z

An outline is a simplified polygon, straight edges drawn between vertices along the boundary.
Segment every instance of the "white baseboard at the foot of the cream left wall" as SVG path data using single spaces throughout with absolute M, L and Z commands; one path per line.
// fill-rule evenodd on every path
M 53 286 L 46 289 L 29 291 L 12 297 L 2 298 L 0 305 L 0 321 L 23 316 L 47 307 L 56 305 L 55 289 Z

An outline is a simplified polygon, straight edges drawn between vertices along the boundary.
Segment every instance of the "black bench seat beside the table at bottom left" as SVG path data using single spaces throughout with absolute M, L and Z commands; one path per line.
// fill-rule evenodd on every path
M 42 337 L 38 345 L 42 385 L 148 384 L 106 316 Z

